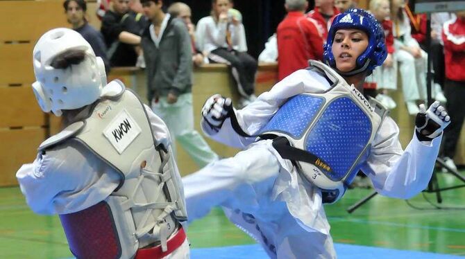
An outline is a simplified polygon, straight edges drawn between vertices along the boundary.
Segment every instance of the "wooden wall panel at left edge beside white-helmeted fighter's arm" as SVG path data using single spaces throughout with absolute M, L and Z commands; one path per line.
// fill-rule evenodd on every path
M 44 141 L 44 136 L 45 130 L 41 127 L 0 129 L 0 186 L 17 185 L 17 170 L 22 164 L 34 161 L 37 147 Z

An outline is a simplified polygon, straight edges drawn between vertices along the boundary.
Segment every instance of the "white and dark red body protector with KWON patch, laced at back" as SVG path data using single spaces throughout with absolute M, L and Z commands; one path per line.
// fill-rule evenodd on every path
M 185 200 L 174 158 L 153 139 L 139 98 L 121 82 L 110 82 L 88 118 L 47 139 L 40 150 L 70 139 L 121 175 L 117 190 L 101 203 L 60 215 L 74 256 L 101 258 L 98 250 L 107 249 L 105 258 L 132 258 L 137 249 L 157 244 L 166 251 L 167 238 L 187 219 Z

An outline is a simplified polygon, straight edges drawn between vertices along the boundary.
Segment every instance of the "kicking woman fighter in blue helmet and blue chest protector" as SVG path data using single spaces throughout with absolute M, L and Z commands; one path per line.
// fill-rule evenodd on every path
M 340 199 L 358 170 L 388 197 L 408 199 L 428 185 L 450 118 L 438 102 L 420 105 L 402 149 L 394 120 L 362 94 L 387 56 L 373 15 L 335 17 L 323 56 L 244 109 L 219 95 L 205 102 L 205 134 L 244 151 L 183 179 L 190 221 L 223 206 L 271 258 L 335 258 L 323 203 Z

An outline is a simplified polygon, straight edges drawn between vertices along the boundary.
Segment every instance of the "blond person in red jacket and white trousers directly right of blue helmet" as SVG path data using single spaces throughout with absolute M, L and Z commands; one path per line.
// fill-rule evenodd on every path
M 373 71 L 373 82 L 378 87 L 378 99 L 387 109 L 396 108 L 396 102 L 389 96 L 389 91 L 397 89 L 397 66 L 394 62 L 394 36 L 392 34 L 392 21 L 389 19 L 391 10 L 389 8 L 389 0 L 371 0 L 370 12 L 381 24 L 384 30 L 384 38 L 386 39 L 387 58 L 382 66 L 378 66 Z

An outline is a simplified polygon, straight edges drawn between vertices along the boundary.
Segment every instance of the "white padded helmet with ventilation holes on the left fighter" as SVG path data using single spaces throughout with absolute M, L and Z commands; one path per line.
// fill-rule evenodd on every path
M 71 50 L 85 52 L 84 60 L 66 69 L 51 66 L 53 59 Z M 62 109 L 78 109 L 95 102 L 106 85 L 105 65 L 78 32 L 68 28 L 49 30 L 33 51 L 33 90 L 40 108 L 56 116 Z

